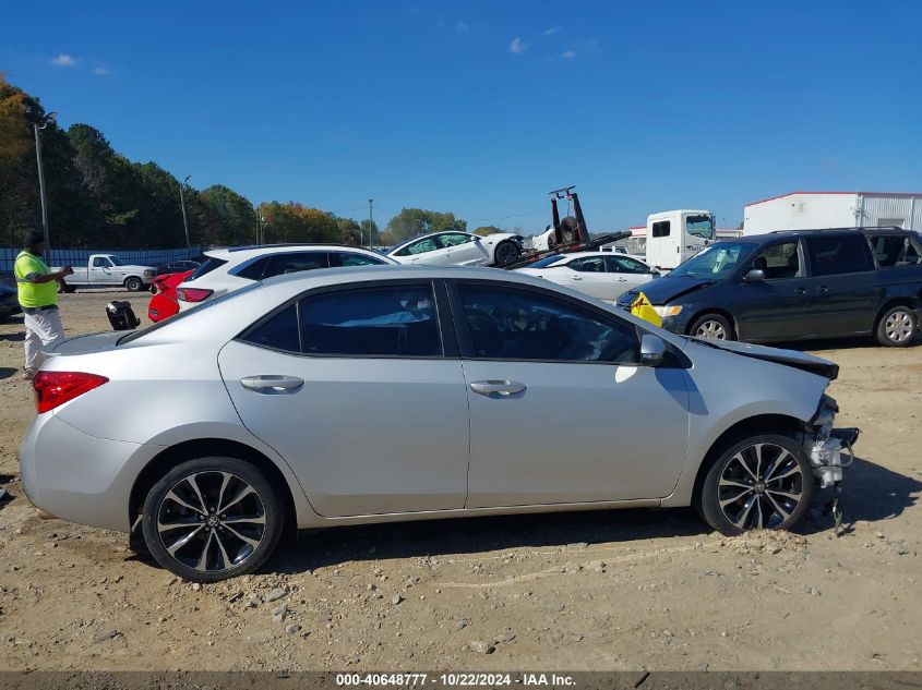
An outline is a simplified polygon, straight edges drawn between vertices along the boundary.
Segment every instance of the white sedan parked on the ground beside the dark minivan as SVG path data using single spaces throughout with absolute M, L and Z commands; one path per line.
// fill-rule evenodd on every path
M 659 275 L 656 268 L 639 258 L 615 252 L 554 254 L 517 270 L 606 302 L 613 302 L 622 292 L 638 288 Z

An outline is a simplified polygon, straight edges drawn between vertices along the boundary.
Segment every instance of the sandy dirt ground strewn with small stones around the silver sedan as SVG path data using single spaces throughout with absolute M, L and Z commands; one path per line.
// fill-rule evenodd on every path
M 68 331 L 108 329 L 125 296 L 146 313 L 145 294 L 63 295 Z M 838 538 L 816 513 L 725 538 L 692 510 L 338 528 L 201 586 L 124 535 L 38 519 L 22 338 L 0 324 L 0 669 L 922 669 L 922 348 L 821 343 L 863 433 Z

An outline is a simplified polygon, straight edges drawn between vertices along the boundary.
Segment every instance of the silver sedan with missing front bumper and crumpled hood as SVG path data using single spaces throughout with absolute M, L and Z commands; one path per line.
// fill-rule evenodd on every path
M 848 461 L 836 372 L 506 271 L 328 269 L 63 341 L 20 461 L 46 517 L 203 582 L 283 526 L 695 505 L 786 529 Z

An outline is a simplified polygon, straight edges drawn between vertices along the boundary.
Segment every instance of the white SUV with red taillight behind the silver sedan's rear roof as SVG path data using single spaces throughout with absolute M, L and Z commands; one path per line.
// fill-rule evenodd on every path
M 205 252 L 207 259 L 176 289 L 179 311 L 256 280 L 316 268 L 396 264 L 378 252 L 346 244 L 270 244 Z

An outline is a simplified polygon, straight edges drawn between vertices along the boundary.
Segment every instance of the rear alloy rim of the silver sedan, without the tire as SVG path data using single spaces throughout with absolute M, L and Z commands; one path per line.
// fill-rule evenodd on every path
M 266 510 L 255 488 L 230 472 L 182 477 L 157 510 L 157 534 L 170 557 L 201 572 L 243 564 L 263 541 Z

